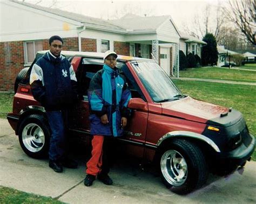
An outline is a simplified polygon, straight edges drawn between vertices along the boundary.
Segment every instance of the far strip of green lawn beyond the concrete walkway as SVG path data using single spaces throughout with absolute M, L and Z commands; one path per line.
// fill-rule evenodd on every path
M 184 78 L 256 82 L 256 72 L 220 67 L 187 68 L 185 71 L 180 71 L 179 76 Z

